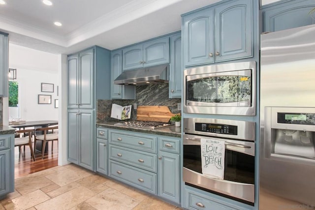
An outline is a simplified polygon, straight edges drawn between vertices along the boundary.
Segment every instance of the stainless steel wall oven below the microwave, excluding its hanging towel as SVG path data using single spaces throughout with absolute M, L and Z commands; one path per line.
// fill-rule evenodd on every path
M 186 185 L 243 203 L 254 203 L 255 123 L 184 118 L 183 180 Z M 202 174 L 201 138 L 225 141 L 224 179 Z

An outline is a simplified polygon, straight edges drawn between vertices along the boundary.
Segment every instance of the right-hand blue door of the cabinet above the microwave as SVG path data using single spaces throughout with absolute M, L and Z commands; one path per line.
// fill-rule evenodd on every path
M 252 0 L 237 0 L 215 11 L 215 62 L 252 57 Z

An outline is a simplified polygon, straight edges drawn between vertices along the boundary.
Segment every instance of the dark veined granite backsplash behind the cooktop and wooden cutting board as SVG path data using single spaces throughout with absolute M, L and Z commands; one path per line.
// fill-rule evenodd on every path
M 181 103 L 181 99 L 168 98 L 168 84 L 159 85 L 142 85 L 136 86 L 136 100 L 97 100 L 97 123 L 106 123 L 106 121 L 114 120 L 110 118 L 112 104 L 132 105 L 131 119 L 137 117 L 133 104 L 139 105 L 165 105 L 172 113 L 180 113 L 177 104 Z

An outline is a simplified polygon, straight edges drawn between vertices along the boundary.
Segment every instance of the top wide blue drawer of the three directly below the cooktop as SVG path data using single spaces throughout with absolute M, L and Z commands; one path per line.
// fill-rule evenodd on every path
M 110 143 L 146 152 L 157 153 L 157 138 L 134 133 L 110 131 Z

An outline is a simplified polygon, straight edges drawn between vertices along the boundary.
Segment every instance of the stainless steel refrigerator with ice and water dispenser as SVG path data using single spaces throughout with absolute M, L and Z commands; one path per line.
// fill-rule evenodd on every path
M 315 25 L 261 35 L 259 210 L 315 208 Z

